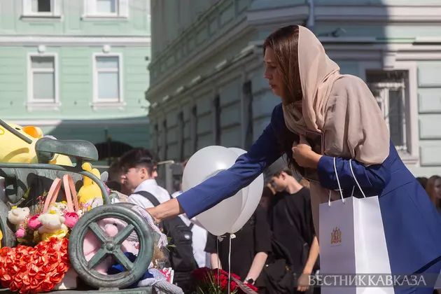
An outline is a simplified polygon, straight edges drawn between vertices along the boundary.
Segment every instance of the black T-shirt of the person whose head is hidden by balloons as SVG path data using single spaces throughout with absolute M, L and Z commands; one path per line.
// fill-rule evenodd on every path
M 240 276 L 241 280 L 244 281 L 255 254 L 271 251 L 271 230 L 269 230 L 266 211 L 258 206 L 244 228 L 237 231 L 235 236 L 231 240 L 231 272 Z M 223 241 L 218 241 L 218 250 L 216 250 L 217 240 L 216 236 L 209 234 L 205 251 L 218 253 L 223 270 L 228 272 L 230 235 L 226 234 Z

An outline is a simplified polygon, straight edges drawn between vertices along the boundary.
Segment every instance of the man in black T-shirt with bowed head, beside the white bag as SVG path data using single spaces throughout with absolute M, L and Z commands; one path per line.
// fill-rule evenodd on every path
M 296 290 L 307 291 L 309 275 L 318 269 L 318 241 L 312 221 L 309 189 L 293 177 L 283 158 L 265 171 L 265 178 L 276 191 L 268 210 L 272 237 L 289 254 L 293 272 L 298 276 Z M 308 291 L 312 293 L 313 290 Z

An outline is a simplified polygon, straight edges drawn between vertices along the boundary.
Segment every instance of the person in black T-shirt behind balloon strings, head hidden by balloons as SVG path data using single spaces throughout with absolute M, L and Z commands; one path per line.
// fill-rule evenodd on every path
M 211 253 L 211 268 L 221 268 L 228 272 L 229 234 L 223 236 L 222 241 L 209 234 L 205 251 Z M 258 277 L 269 251 L 271 251 L 271 231 L 266 211 L 259 206 L 244 227 L 235 233 L 235 238 L 231 239 L 231 272 L 240 276 L 241 281 L 259 288 L 259 293 L 265 293 L 265 285 Z

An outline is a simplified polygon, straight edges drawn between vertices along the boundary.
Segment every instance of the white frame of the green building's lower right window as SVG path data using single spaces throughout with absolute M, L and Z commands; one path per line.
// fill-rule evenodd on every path
M 98 97 L 99 91 L 99 81 L 98 81 L 98 68 L 97 68 L 97 57 L 118 57 L 118 99 L 100 99 Z M 92 75 L 93 75 L 93 94 L 92 94 L 92 104 L 93 105 L 103 105 L 103 104 L 124 104 L 124 90 L 123 90 L 123 54 L 120 52 L 115 53 L 98 53 L 95 52 L 92 55 Z

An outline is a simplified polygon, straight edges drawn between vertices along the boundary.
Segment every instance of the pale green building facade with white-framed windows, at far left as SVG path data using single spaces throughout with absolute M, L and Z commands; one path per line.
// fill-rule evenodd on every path
M 0 118 L 103 160 L 148 146 L 150 31 L 148 0 L 0 1 Z

